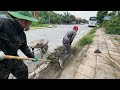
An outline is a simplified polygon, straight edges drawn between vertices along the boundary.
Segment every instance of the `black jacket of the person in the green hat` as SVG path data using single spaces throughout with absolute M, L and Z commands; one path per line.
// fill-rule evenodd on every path
M 27 57 L 34 58 L 27 46 L 26 35 L 15 19 L 0 18 L 0 49 L 6 55 L 18 56 L 20 49 Z

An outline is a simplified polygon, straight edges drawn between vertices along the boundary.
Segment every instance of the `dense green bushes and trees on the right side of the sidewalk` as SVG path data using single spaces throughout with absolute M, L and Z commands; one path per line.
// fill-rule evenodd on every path
M 110 18 L 105 20 L 105 16 Z M 105 28 L 105 33 L 120 35 L 120 11 L 98 11 L 97 18 L 101 26 Z

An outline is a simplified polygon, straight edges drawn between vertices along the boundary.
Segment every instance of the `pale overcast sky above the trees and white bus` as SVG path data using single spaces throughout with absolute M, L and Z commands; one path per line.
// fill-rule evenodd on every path
M 54 11 L 54 12 L 63 14 L 63 12 L 66 11 Z M 96 16 L 97 14 L 97 11 L 68 11 L 68 12 L 76 17 L 81 17 L 82 19 L 87 19 L 87 20 L 89 19 L 89 17 Z

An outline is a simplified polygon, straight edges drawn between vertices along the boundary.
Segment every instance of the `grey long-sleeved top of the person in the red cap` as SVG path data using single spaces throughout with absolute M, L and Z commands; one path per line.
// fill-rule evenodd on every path
M 63 44 L 72 44 L 74 37 L 76 36 L 76 32 L 75 31 L 69 31 L 65 34 L 65 36 L 63 37 Z

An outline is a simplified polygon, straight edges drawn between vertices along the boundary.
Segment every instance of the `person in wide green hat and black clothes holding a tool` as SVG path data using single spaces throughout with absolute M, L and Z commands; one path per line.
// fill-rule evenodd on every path
M 31 53 L 24 30 L 38 20 L 31 11 L 8 11 L 13 18 L 0 18 L 0 51 L 5 55 L 18 56 L 20 49 L 27 57 L 35 58 Z M 8 79 L 12 73 L 17 79 L 28 79 L 28 68 L 23 60 L 8 60 L 0 57 L 0 79 Z

